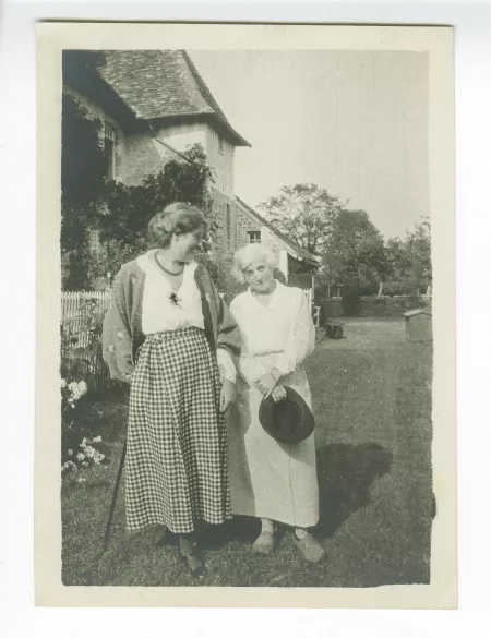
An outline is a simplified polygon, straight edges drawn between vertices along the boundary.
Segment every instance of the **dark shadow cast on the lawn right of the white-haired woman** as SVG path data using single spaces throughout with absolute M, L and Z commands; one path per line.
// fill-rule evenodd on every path
M 332 537 L 370 503 L 370 489 L 391 470 L 392 453 L 378 443 L 326 444 L 318 449 L 320 521 L 315 535 Z

